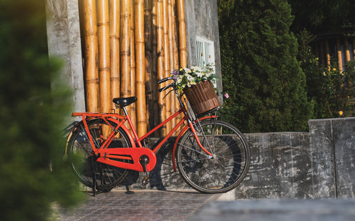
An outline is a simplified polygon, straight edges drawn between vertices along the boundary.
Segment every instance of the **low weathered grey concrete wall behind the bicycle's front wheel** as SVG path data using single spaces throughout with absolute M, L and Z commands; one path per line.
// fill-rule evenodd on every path
M 354 198 L 355 118 L 310 120 L 309 126 L 309 133 L 245 134 L 251 166 L 236 198 Z M 172 148 L 170 139 L 158 153 L 148 188 L 189 188 L 173 171 Z M 141 176 L 132 172 L 121 188 L 141 188 Z

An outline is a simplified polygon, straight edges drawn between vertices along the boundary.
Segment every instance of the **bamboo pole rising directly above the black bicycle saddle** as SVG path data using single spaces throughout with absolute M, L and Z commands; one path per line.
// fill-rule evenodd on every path
M 130 4 L 129 0 L 121 0 L 120 4 L 120 60 L 121 60 L 121 97 L 131 96 L 131 25 L 130 25 Z M 131 107 L 126 107 L 131 112 Z

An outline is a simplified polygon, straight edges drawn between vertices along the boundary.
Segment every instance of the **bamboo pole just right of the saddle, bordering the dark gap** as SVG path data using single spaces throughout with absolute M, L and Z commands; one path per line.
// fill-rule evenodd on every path
M 136 92 L 137 103 L 137 132 L 143 136 L 147 132 L 146 122 L 146 70 L 144 47 L 144 2 L 134 1 L 134 39 L 136 41 Z

